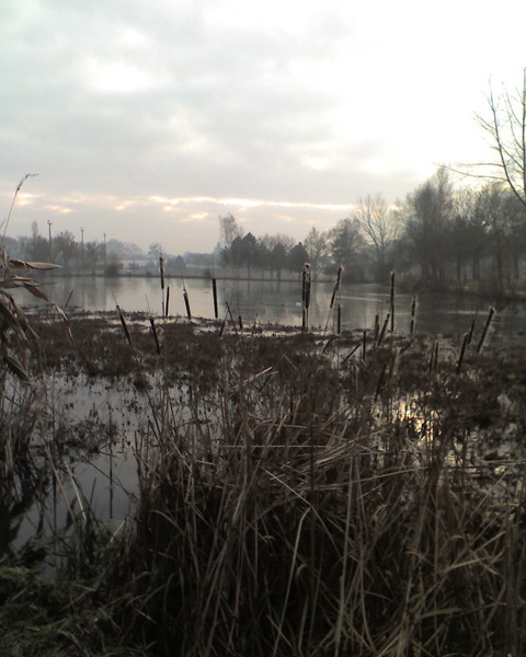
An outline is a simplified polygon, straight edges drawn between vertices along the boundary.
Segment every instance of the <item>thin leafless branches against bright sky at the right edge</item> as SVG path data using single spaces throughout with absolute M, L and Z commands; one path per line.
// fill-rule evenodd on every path
M 500 95 L 490 85 L 489 116 L 476 115 L 478 124 L 490 136 L 496 153 L 493 162 L 479 162 L 476 168 L 488 168 L 495 173 L 480 177 L 506 183 L 526 207 L 526 69 L 523 87 L 511 95 L 505 89 Z

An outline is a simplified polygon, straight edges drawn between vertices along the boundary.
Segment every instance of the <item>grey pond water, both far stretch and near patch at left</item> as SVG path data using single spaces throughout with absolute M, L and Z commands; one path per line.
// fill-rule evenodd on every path
M 163 301 L 169 313 L 186 314 L 183 291 L 186 289 L 193 316 L 214 318 L 211 281 L 190 279 L 185 286 L 181 279 L 169 279 L 164 299 L 156 278 L 102 278 L 102 277 L 49 277 L 44 289 L 60 307 L 82 308 L 88 311 L 113 311 L 116 303 L 125 312 L 148 311 L 161 314 Z M 254 322 L 301 326 L 301 283 L 218 280 L 219 316 L 227 312 L 243 318 L 245 325 Z M 334 318 L 329 315 L 333 291 L 332 284 L 312 285 L 309 325 L 329 331 L 334 328 Z M 69 300 L 69 301 L 68 301 Z M 35 303 L 26 296 L 23 304 Z M 389 310 L 389 289 L 375 285 L 344 285 L 338 302 L 342 308 L 342 327 L 348 330 L 375 326 Z M 396 293 L 396 330 L 409 333 L 412 296 Z M 488 315 L 488 301 L 458 295 L 419 295 L 415 331 L 431 335 L 462 335 L 469 330 L 478 313 L 477 331 L 482 330 Z M 526 331 L 526 304 L 512 302 L 495 313 L 488 341 L 506 339 L 523 335 Z M 127 517 L 130 505 L 138 495 L 137 440 L 150 433 L 153 426 L 151 403 L 148 395 L 123 382 L 93 381 L 83 376 L 67 380 L 60 374 L 50 376 L 42 382 L 45 389 L 47 414 L 64 413 L 61 424 L 69 427 L 67 436 L 81 436 L 85 445 L 71 443 L 64 448 L 69 463 L 54 498 L 45 500 L 45 508 L 34 505 L 24 519 L 13 541 L 21 548 L 35 533 L 45 517 L 53 530 L 68 525 L 70 509 L 77 508 L 79 492 L 90 500 L 96 516 L 105 522 L 121 522 Z M 156 388 L 156 385 L 153 385 Z M 183 408 L 185 404 L 181 405 Z M 184 420 L 184 418 L 183 418 Z M 75 429 L 73 429 L 75 427 Z M 54 433 L 55 429 L 54 429 Z M 80 457 L 79 457 L 80 454 Z

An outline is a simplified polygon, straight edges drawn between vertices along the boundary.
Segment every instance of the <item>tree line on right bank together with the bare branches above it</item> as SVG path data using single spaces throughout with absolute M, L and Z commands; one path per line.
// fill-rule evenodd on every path
M 243 235 L 232 216 L 221 222 L 224 262 L 276 270 L 298 269 L 305 257 L 315 276 L 344 267 L 347 280 L 386 283 L 389 270 L 428 288 L 476 284 L 491 291 L 525 287 L 526 256 L 526 69 L 522 88 L 495 95 L 476 120 L 489 137 L 493 160 L 460 165 L 462 177 L 483 181 L 458 186 L 450 171 L 436 173 L 388 207 L 381 196 L 367 196 L 334 229 L 312 228 L 304 242 L 281 235 Z

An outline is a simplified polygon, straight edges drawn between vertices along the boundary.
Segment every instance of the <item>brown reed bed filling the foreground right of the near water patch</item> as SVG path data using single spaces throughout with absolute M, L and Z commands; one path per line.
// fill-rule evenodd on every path
M 96 330 L 107 354 L 62 358 L 100 376 L 121 341 L 132 384 L 161 376 L 135 514 L 117 537 L 79 518 L 80 599 L 103 619 L 84 654 L 102 629 L 170 657 L 526 654 L 521 350 Z

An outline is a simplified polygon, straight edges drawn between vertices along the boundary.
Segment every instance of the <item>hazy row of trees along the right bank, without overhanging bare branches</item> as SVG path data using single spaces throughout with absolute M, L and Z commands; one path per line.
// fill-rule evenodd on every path
M 298 243 L 244 234 L 232 215 L 220 218 L 220 233 L 224 264 L 249 277 L 266 269 L 279 278 L 309 263 L 315 277 L 342 265 L 355 283 L 386 283 L 396 269 L 434 289 L 481 280 L 504 289 L 522 274 L 526 207 L 501 183 L 455 187 L 441 168 L 403 201 L 389 207 L 381 196 L 367 196 L 333 229 L 311 228 Z

